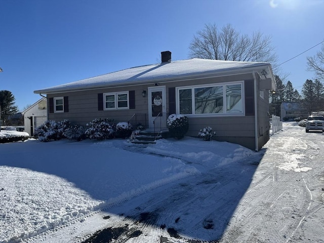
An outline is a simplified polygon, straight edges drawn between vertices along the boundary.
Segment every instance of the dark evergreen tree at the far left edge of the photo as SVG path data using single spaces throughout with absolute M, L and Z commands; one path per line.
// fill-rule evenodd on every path
M 0 91 L 1 125 L 7 125 L 8 117 L 18 112 L 15 100 L 15 96 L 10 91 Z

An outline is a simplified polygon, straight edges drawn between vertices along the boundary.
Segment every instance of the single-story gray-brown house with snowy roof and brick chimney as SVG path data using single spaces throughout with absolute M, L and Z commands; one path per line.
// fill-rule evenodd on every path
M 47 95 L 50 120 L 84 126 L 94 118 L 139 117 L 153 129 L 154 119 L 176 113 L 189 119 L 187 136 L 197 137 L 210 126 L 217 140 L 250 149 L 259 150 L 269 140 L 268 91 L 276 88 L 269 63 L 171 61 L 169 51 L 161 52 L 161 60 L 34 93 Z

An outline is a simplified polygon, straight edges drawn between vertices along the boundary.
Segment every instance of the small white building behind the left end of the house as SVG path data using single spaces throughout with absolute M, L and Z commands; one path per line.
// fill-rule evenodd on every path
M 47 120 L 47 100 L 42 98 L 22 112 L 24 116 L 25 132 L 31 137 L 35 129 Z

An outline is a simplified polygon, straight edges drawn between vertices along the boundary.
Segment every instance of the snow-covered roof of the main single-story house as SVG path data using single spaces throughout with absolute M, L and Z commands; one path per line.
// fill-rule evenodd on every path
M 36 90 L 36 94 L 49 94 L 76 90 L 86 90 L 123 85 L 166 82 L 185 78 L 208 77 L 223 74 L 246 73 L 252 70 L 266 69 L 270 78 L 273 73 L 270 63 L 266 62 L 237 62 L 209 59 L 188 59 L 170 63 L 152 64 L 128 68 L 96 77 L 78 80 L 76 82 Z

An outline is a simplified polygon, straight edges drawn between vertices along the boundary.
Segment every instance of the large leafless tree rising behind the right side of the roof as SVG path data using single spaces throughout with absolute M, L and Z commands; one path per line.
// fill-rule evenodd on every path
M 271 46 L 271 37 L 260 31 L 252 36 L 241 34 L 230 24 L 219 29 L 206 24 L 193 36 L 189 45 L 191 58 L 225 61 L 269 62 L 276 66 L 277 55 Z

